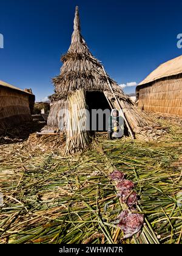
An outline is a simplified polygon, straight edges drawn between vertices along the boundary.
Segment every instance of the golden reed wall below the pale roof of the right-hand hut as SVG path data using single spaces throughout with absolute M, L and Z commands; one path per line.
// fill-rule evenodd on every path
M 137 90 L 143 110 L 182 116 L 182 74 L 140 85 Z

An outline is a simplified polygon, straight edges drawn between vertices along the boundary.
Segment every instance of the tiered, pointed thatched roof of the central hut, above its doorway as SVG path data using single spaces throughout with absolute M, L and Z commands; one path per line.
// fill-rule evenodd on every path
M 59 76 L 53 78 L 56 93 L 52 95 L 52 100 L 66 98 L 70 92 L 81 88 L 86 91 L 109 90 L 101 63 L 93 57 L 81 35 L 78 7 L 75 11 L 72 42 L 67 54 L 61 57 L 61 61 L 63 62 L 61 72 Z M 123 94 L 116 82 L 109 76 L 108 79 L 115 90 Z

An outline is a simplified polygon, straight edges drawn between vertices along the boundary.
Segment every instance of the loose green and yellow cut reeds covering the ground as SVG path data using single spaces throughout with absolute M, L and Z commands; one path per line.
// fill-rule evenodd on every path
M 158 140 L 98 135 L 72 157 L 49 144 L 1 143 L 0 243 L 182 243 L 182 118 L 151 115 L 169 127 Z M 126 240 L 115 222 L 126 205 L 114 169 L 135 183 L 135 212 L 145 216 Z

